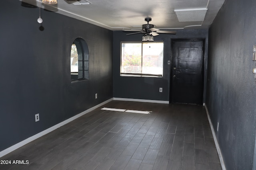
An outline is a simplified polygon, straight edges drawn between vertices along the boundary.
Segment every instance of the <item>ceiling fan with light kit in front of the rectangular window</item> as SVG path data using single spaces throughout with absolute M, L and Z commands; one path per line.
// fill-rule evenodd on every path
M 145 21 L 148 22 L 147 24 L 142 25 L 141 30 L 123 30 L 123 31 L 138 31 L 135 33 L 128 33 L 126 35 L 132 35 L 132 34 L 137 34 L 137 33 L 143 33 L 142 41 L 154 41 L 154 36 L 159 35 L 158 33 L 167 33 L 167 34 L 176 34 L 176 31 L 165 31 L 165 30 L 160 30 L 154 28 L 153 24 L 149 24 L 149 22 L 152 20 L 152 18 L 147 17 L 145 18 Z

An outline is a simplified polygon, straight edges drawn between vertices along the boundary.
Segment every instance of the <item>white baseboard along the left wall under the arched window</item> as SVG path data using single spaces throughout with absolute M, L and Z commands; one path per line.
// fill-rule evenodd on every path
M 0 158 L 32 141 L 34 141 L 35 139 L 38 139 L 39 137 L 42 137 L 43 135 L 46 135 L 47 133 L 50 133 L 51 131 L 54 131 L 55 129 L 58 129 L 59 127 L 69 123 L 70 121 L 73 121 L 74 119 L 77 119 L 78 117 L 81 117 L 82 115 L 85 115 L 86 113 L 89 113 L 90 111 L 100 107 L 100 106 L 103 106 L 104 104 L 107 104 L 108 102 L 111 102 L 113 100 L 113 98 L 109 99 L 109 100 L 106 100 L 105 102 L 102 102 L 101 104 L 98 104 L 94 107 L 91 107 L 90 109 L 87 109 L 86 111 L 83 111 L 82 113 L 79 113 L 78 115 L 75 115 L 73 117 L 70 117 L 69 119 L 65 120 L 65 121 L 62 121 L 60 123 L 58 123 L 57 125 L 54 125 L 40 133 L 37 133 L 36 135 L 33 135 L 32 137 L 29 137 L 28 139 L 25 139 L 24 141 L 21 141 L 15 145 L 12 145 L 11 147 L 5 149 L 5 150 L 2 150 L 0 152 Z

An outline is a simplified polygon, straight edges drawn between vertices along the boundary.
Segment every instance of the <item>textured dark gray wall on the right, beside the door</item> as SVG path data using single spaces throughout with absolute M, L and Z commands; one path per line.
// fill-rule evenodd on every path
M 251 170 L 253 165 L 255 8 L 255 0 L 226 0 L 209 29 L 206 106 L 228 170 Z

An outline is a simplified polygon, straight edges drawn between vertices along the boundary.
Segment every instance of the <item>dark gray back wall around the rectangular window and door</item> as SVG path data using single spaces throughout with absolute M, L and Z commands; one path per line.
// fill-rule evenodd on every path
M 152 21 L 152 24 L 154 22 Z M 141 41 L 143 34 L 126 35 L 127 32 L 114 31 L 113 42 L 113 96 L 144 100 L 169 101 L 170 68 L 172 61 L 171 39 L 205 39 L 205 56 L 208 53 L 208 30 L 177 30 L 176 35 L 160 34 L 154 41 L 164 41 L 164 70 L 162 78 L 120 76 L 120 41 Z M 206 62 L 207 62 L 207 57 Z M 206 67 L 205 67 L 206 68 Z M 159 88 L 163 92 L 159 92 Z

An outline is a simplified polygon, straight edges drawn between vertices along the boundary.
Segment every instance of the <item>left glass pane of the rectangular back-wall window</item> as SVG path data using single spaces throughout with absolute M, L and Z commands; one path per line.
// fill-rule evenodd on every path
M 122 43 L 122 73 L 141 74 L 141 45 L 141 43 Z

